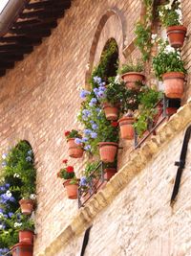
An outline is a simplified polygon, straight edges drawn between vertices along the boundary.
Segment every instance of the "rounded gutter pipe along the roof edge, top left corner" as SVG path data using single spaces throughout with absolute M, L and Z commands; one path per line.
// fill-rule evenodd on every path
M 10 0 L 0 13 L 0 36 L 5 35 L 29 0 Z

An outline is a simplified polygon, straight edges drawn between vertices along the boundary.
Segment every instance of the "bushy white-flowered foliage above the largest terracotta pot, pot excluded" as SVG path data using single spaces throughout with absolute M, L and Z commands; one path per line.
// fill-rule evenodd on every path
M 153 70 L 159 80 L 161 80 L 162 74 L 166 72 L 176 71 L 186 74 L 180 52 L 174 49 L 170 52 L 168 48 L 170 49 L 170 46 L 162 45 L 158 56 L 153 58 Z

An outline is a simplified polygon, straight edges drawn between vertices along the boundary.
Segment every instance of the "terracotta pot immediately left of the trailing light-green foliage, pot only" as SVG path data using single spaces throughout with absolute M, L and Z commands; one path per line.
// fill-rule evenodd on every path
M 124 116 L 118 120 L 121 139 L 132 140 L 134 138 L 133 117 Z

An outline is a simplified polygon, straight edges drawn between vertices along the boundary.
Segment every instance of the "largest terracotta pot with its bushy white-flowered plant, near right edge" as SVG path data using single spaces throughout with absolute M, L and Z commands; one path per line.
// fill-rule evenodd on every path
M 182 98 L 186 70 L 179 51 L 169 45 L 161 45 L 158 56 L 153 58 L 153 70 L 156 77 L 163 81 L 166 97 Z

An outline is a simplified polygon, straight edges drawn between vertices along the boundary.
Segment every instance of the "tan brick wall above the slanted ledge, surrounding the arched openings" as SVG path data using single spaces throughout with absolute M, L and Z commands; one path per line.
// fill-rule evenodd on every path
M 184 2 L 189 1 L 182 3 L 188 25 L 186 5 L 189 3 L 184 5 Z M 111 10 L 114 14 L 107 16 Z M 53 30 L 53 35 L 44 39 L 30 56 L 16 63 L 15 68 L 0 79 L 0 151 L 6 151 L 19 139 L 26 139 L 35 153 L 38 208 L 34 255 L 50 244 L 77 212 L 76 200 L 67 199 L 56 173 L 62 158 L 67 157 L 63 132 L 79 126 L 75 120 L 80 105 L 77 87 L 87 81 L 87 63 L 90 60 L 91 64 L 97 63 L 105 42 L 111 36 L 116 38 L 120 60 L 124 61 L 122 49 L 134 38 L 139 14 L 140 1 L 137 0 L 74 0 L 72 8 Z M 105 24 L 99 22 L 104 15 Z M 100 32 L 96 33 L 97 30 Z M 189 47 L 186 47 L 183 49 L 184 58 L 190 59 Z M 121 143 L 124 146 L 120 152 L 122 165 L 126 163 L 127 149 L 132 143 Z M 82 169 L 83 162 L 84 159 L 70 160 L 77 172 Z M 140 180 L 144 180 L 143 177 Z M 135 182 L 138 184 L 137 178 Z M 115 203 L 122 200 L 121 197 Z M 124 203 L 121 201 L 121 209 Z M 112 215 L 111 210 L 108 211 Z M 106 216 L 101 218 L 106 220 Z M 95 231 L 93 229 L 93 234 Z M 110 255 L 120 254 L 114 250 Z

